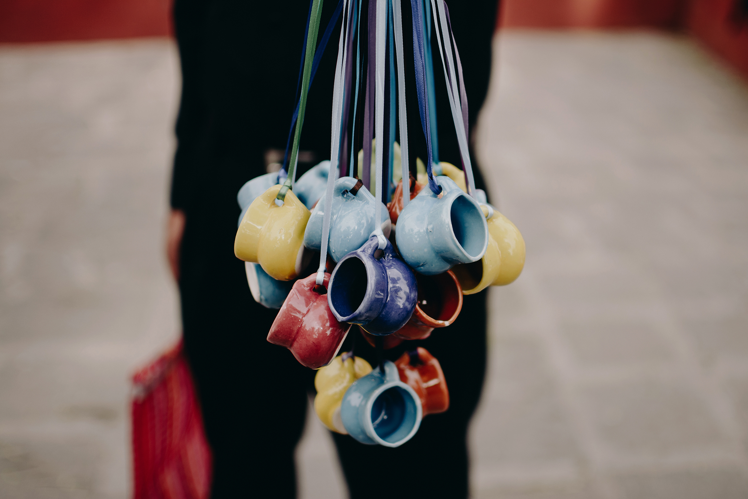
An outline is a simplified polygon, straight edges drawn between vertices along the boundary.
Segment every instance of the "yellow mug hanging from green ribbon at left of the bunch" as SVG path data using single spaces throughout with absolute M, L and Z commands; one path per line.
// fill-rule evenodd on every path
M 309 263 L 304 229 L 310 211 L 290 190 L 278 206 L 275 197 L 280 190 L 280 185 L 272 186 L 252 201 L 236 231 L 234 254 L 245 262 L 260 263 L 278 281 L 290 281 Z

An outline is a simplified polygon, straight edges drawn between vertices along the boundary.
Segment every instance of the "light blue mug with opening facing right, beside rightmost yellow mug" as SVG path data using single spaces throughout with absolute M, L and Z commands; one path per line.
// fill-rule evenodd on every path
M 488 246 L 488 224 L 479 203 L 449 177 L 435 180 L 441 199 L 431 189 L 422 189 L 397 218 L 397 249 L 423 275 L 476 262 Z

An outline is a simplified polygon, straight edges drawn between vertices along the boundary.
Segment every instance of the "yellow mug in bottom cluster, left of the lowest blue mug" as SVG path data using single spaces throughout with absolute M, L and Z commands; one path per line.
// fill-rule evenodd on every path
M 314 411 L 322 424 L 334 432 L 347 434 L 340 419 L 340 402 L 346 390 L 359 378 L 372 372 L 372 367 L 361 357 L 353 357 L 351 352 L 338 355 L 333 361 L 318 370 L 314 376 Z

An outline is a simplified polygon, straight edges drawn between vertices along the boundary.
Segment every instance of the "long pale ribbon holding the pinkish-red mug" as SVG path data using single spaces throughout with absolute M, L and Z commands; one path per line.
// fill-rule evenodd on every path
M 348 0 L 343 0 L 344 9 L 348 10 Z M 350 15 L 350 14 L 349 14 Z M 349 19 L 349 15 L 346 19 Z M 345 36 L 344 36 L 345 34 Z M 335 65 L 335 82 L 333 85 L 332 100 L 332 133 L 330 144 L 330 173 L 325 190 L 325 218 L 322 219 L 322 247 L 319 254 L 319 269 L 317 269 L 316 284 L 322 286 L 325 282 L 325 270 L 327 269 L 327 248 L 330 239 L 330 221 L 332 218 L 332 192 L 337 180 L 338 162 L 340 161 L 340 127 L 343 121 L 343 93 L 346 86 L 346 76 L 343 68 L 346 65 L 348 55 L 347 46 L 350 30 L 346 24 L 340 28 L 340 42 L 337 49 L 337 64 Z

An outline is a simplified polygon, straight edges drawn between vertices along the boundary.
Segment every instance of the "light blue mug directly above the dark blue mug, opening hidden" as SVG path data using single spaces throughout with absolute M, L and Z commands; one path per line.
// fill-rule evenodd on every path
M 384 203 L 378 202 L 367 189 L 358 189 L 355 195 L 351 194 L 351 189 L 357 182 L 353 177 L 340 177 L 333 188 L 328 253 L 336 262 L 367 242 L 375 229 L 377 206 L 381 209 L 381 231 L 384 237 L 389 237 L 392 229 L 390 212 Z M 304 246 L 316 251 L 322 247 L 325 199 L 326 195 L 319 199 L 304 231 Z

